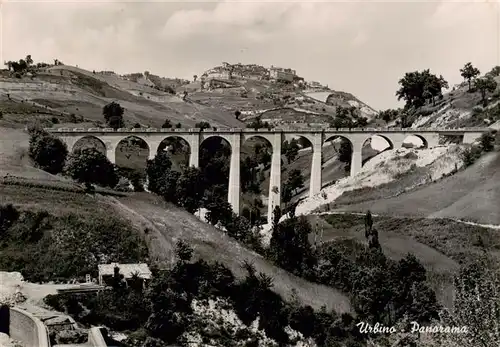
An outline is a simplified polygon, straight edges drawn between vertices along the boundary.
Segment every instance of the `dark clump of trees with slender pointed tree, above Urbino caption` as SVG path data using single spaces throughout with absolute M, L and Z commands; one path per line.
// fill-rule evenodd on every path
M 368 247 L 357 244 L 354 249 L 338 243 L 314 248 L 305 217 L 278 223 L 279 217 L 277 212 L 266 256 L 297 276 L 348 293 L 359 320 L 392 326 L 405 318 L 419 324 L 439 318 L 440 306 L 426 283 L 425 268 L 413 255 L 398 262 L 388 259 L 374 238 L 371 215 L 366 216 Z

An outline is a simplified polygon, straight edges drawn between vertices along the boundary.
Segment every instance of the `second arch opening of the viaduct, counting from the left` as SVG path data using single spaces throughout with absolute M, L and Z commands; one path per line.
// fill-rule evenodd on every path
M 147 140 L 137 135 L 120 139 L 115 146 L 115 164 L 128 169 L 144 170 L 151 148 Z

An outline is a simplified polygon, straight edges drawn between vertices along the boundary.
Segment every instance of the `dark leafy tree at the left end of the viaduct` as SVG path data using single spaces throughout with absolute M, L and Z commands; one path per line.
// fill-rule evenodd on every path
M 36 167 L 51 174 L 63 171 L 68 148 L 59 138 L 41 129 L 30 129 L 29 156 Z

